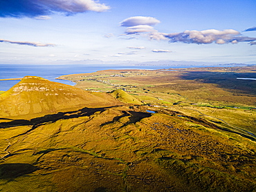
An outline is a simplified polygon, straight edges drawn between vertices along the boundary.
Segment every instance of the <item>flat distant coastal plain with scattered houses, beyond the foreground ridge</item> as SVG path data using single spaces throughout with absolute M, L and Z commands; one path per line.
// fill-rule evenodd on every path
M 84 90 L 117 88 L 148 106 L 201 117 L 225 129 L 256 137 L 255 66 L 162 70 L 102 70 L 65 75 Z

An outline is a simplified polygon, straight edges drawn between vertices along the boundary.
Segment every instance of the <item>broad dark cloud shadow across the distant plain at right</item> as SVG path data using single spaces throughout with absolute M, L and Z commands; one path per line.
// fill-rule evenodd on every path
M 188 71 L 181 75 L 182 79 L 200 81 L 205 84 L 217 84 L 232 93 L 256 95 L 256 81 L 237 78 L 256 78 L 256 73 L 220 73 L 208 71 Z

